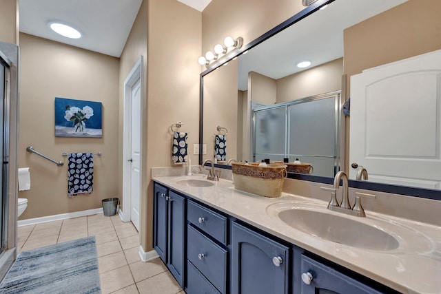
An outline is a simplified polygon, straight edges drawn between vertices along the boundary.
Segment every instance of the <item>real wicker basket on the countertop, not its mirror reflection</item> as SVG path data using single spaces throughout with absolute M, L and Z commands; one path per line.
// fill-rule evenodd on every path
M 287 166 L 269 164 L 268 167 L 245 165 L 232 162 L 234 187 L 238 190 L 270 198 L 282 195 L 283 180 L 287 176 Z

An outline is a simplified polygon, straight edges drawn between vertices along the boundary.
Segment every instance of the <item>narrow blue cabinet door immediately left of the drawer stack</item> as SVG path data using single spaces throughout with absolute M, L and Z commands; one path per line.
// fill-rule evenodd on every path
M 185 198 L 170 191 L 168 193 L 168 262 L 170 273 L 183 286 L 185 246 Z

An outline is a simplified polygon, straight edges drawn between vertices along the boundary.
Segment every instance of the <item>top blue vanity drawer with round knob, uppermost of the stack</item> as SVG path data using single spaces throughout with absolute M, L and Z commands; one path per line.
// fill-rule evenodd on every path
M 187 206 L 187 220 L 222 244 L 227 244 L 227 223 L 225 216 L 207 209 L 191 200 Z

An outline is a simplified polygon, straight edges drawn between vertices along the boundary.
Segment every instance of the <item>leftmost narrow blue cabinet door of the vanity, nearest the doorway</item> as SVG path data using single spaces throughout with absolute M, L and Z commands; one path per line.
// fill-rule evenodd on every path
M 167 188 L 154 184 L 154 249 L 167 264 Z

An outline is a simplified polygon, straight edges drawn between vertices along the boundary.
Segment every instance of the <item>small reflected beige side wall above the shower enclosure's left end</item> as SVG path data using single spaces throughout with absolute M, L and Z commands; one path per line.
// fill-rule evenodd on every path
M 252 101 L 265 105 L 273 105 L 277 98 L 277 83 L 274 78 L 269 78 L 258 72 L 248 73 L 248 94 Z

